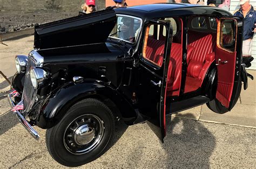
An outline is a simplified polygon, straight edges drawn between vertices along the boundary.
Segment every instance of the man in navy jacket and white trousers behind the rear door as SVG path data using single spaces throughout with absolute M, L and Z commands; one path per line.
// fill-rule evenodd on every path
M 252 39 L 256 32 L 256 11 L 250 4 L 250 0 L 240 0 L 240 9 L 234 12 L 234 16 L 244 18 L 244 33 L 242 41 L 242 62 L 246 67 L 251 66 Z

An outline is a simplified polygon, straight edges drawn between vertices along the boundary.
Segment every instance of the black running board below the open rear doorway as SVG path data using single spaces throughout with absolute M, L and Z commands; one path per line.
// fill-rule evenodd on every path
M 173 102 L 169 104 L 167 103 L 168 105 L 166 105 L 166 115 L 174 114 L 179 111 L 197 107 L 198 105 L 207 103 L 209 101 L 210 101 L 210 98 L 208 97 L 197 96 L 197 97 L 188 98 L 186 100 L 182 100 L 178 102 Z

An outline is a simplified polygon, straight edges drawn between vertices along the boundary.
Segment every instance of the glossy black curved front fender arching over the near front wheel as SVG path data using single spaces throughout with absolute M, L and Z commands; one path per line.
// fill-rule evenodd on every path
M 111 100 L 116 100 L 118 104 L 130 112 L 131 116 L 136 116 L 131 105 L 116 90 L 103 82 L 87 80 L 80 83 L 65 83 L 48 95 L 39 106 L 36 125 L 43 129 L 51 128 L 64 117 L 73 104 L 84 98 L 96 97 L 97 95 L 104 95 Z

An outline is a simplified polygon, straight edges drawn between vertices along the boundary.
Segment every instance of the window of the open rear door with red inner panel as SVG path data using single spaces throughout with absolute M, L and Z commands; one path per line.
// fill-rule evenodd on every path
M 220 24 L 220 41 L 221 47 L 229 51 L 235 50 L 235 21 L 232 19 L 221 20 Z

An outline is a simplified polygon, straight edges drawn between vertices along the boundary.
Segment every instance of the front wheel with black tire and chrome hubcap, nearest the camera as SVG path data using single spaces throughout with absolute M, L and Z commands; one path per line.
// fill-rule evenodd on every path
M 89 130 L 84 132 L 83 137 L 84 133 L 80 132 L 85 129 Z M 58 163 L 80 166 L 97 159 L 107 150 L 113 132 L 114 116 L 111 110 L 96 99 L 86 98 L 73 105 L 57 125 L 46 130 L 46 146 Z

